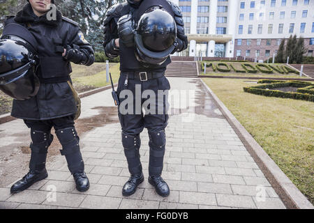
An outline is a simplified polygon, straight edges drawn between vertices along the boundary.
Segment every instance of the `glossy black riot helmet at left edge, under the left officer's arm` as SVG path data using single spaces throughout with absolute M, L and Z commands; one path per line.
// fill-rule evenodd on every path
M 36 40 L 31 33 L 19 24 L 6 25 L 0 39 L 0 90 L 16 100 L 35 96 L 40 86 L 37 65 Z

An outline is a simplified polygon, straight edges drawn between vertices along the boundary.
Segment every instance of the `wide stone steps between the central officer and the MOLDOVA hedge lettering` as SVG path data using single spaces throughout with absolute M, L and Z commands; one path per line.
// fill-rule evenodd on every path
M 196 61 L 172 61 L 165 72 L 167 77 L 197 77 Z

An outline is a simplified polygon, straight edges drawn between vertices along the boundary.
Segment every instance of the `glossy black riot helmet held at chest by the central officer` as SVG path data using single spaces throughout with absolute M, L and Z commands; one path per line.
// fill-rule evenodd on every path
M 176 38 L 177 26 L 172 15 L 162 6 L 153 6 L 137 23 L 135 56 L 140 62 L 160 65 L 173 52 Z

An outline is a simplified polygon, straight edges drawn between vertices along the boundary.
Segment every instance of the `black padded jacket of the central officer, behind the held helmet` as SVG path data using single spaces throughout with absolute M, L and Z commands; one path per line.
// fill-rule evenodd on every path
M 103 43 L 103 46 L 105 48 L 105 54 L 108 57 L 120 56 L 120 70 L 124 72 L 141 70 L 154 70 L 155 72 L 165 71 L 167 65 L 171 63 L 170 56 L 160 66 L 154 66 L 154 68 L 145 68 L 135 58 L 135 47 L 126 47 L 121 41 L 119 41 L 119 49 L 117 49 L 117 47 L 112 44 L 112 39 L 119 38 L 119 33 L 117 30 L 117 22 L 119 21 L 119 18 L 123 15 L 128 15 L 130 12 L 135 14 L 137 8 L 140 6 L 140 3 L 142 1 L 128 0 L 127 2 L 116 4 L 107 10 L 104 22 Z M 174 12 L 174 20 L 177 24 L 177 42 L 179 44 L 177 45 L 177 48 L 174 50 L 174 52 L 181 52 L 188 47 L 188 38 L 184 33 L 184 21 L 182 18 L 181 10 L 171 1 L 167 2 L 172 7 L 172 11 Z M 106 47 L 107 45 L 109 45 L 110 47 Z M 108 48 L 109 50 L 106 50 Z

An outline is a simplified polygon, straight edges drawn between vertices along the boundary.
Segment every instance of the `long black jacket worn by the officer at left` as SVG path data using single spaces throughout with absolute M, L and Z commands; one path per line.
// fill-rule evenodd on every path
M 8 17 L 5 25 L 11 22 L 29 29 L 38 42 L 40 57 L 36 73 L 40 78 L 38 94 L 29 100 L 13 100 L 11 115 L 29 120 L 47 120 L 75 114 L 77 108 L 68 84 L 72 70 L 70 61 L 63 59 L 62 53 L 68 45 L 92 57 L 91 63 L 94 62 L 93 48 L 84 40 L 80 27 L 76 22 L 62 17 L 59 11 L 57 20 L 47 20 L 46 15 L 37 17 L 30 4 L 24 6 L 15 17 Z

